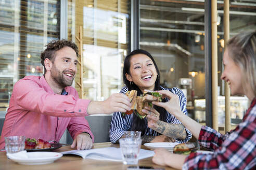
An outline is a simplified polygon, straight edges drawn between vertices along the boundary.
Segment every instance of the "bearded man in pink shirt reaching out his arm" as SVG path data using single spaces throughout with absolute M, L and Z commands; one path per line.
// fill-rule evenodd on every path
M 105 101 L 79 98 L 70 87 L 77 71 L 78 47 L 67 40 L 53 40 L 41 54 L 43 76 L 26 76 L 15 83 L 0 139 L 25 136 L 59 141 L 66 129 L 73 140 L 71 148 L 92 148 L 94 136 L 84 118 L 131 110 L 129 98 L 112 94 Z

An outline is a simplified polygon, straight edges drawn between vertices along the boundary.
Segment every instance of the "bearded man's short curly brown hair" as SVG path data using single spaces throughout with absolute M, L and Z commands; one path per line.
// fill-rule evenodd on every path
M 65 39 L 62 40 L 52 40 L 50 41 L 47 45 L 47 47 L 42 53 L 41 53 L 41 64 L 44 66 L 44 60 L 49 59 L 50 61 L 54 62 L 55 60 L 55 52 L 64 48 L 64 47 L 70 47 L 72 48 L 76 56 L 79 57 L 79 51 L 78 51 L 78 46 L 75 45 L 75 43 L 71 41 L 67 41 Z M 46 72 L 46 68 L 44 66 L 44 70 Z

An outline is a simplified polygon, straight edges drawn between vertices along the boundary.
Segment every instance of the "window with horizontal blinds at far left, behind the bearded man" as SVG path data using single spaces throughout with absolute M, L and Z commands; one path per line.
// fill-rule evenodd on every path
M 0 108 L 6 110 L 14 84 L 41 76 L 44 45 L 59 38 L 59 1 L 0 1 Z

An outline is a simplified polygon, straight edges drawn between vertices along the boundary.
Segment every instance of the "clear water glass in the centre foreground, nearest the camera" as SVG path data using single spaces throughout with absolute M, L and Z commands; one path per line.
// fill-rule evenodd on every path
M 122 153 L 123 164 L 138 164 L 138 155 L 142 139 L 121 138 L 119 139 L 120 149 Z

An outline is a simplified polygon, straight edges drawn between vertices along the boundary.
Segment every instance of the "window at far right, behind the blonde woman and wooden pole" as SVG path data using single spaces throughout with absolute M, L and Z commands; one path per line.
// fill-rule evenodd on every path
M 224 4 L 219 2 L 217 6 L 217 38 L 218 38 L 218 86 L 220 89 L 218 97 L 218 113 L 219 113 L 219 126 L 224 127 L 225 124 L 225 102 L 224 98 L 224 81 L 220 79 L 221 73 L 224 70 L 222 58 L 224 54 Z M 229 37 L 234 35 L 256 29 L 256 2 L 253 1 L 231 1 L 229 6 Z M 234 129 L 238 123 L 242 121 L 242 117 L 249 107 L 250 102 L 246 96 L 231 96 L 230 97 L 230 114 L 231 114 L 231 128 Z

